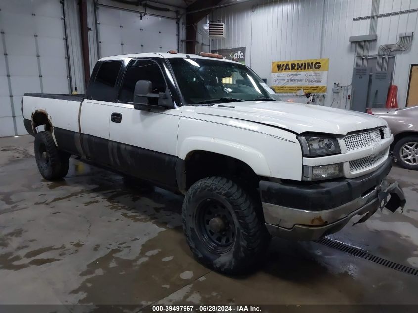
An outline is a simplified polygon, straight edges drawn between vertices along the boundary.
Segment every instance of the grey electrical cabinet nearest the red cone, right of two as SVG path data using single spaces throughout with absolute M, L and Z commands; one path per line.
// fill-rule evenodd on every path
M 369 90 L 370 108 L 384 108 L 386 106 L 387 92 L 392 80 L 391 72 L 376 72 L 372 76 L 372 84 Z

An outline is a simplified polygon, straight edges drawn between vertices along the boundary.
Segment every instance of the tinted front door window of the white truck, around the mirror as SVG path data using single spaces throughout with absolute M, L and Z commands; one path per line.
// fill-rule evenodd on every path
M 152 93 L 166 91 L 166 83 L 160 67 L 152 60 L 131 60 L 126 70 L 119 92 L 120 102 L 134 102 L 134 89 L 137 81 L 151 81 Z M 157 98 L 149 98 L 149 104 L 157 104 Z M 154 103 L 155 102 L 155 103 Z

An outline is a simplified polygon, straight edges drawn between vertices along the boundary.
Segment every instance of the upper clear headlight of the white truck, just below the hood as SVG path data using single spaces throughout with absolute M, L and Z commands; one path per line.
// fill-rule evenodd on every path
M 322 136 L 298 136 L 303 156 L 330 155 L 341 153 L 338 140 Z

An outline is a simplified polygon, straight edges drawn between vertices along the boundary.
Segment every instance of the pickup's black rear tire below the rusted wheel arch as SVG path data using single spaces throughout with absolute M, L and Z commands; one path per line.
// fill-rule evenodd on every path
M 36 165 L 43 178 L 58 180 L 67 175 L 70 155 L 58 150 L 50 132 L 36 133 L 34 150 Z

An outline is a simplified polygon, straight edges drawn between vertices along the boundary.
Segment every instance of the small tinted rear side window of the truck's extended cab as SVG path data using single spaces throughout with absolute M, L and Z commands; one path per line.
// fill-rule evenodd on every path
M 115 84 L 122 61 L 103 62 L 97 72 L 91 90 L 91 97 L 98 101 L 114 101 L 116 97 Z

